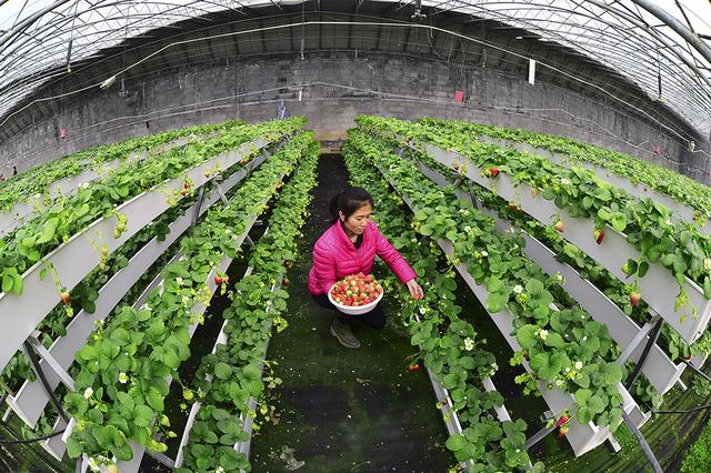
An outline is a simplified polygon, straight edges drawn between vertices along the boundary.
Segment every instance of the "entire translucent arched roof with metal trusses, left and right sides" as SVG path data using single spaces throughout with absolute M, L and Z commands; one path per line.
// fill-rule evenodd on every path
M 310 1 L 310 0 L 307 0 Z M 651 100 L 665 102 L 694 129 L 711 132 L 711 6 L 695 12 L 675 0 L 674 12 L 649 0 L 430 0 L 395 1 L 393 9 L 422 6 L 431 21 L 448 11 L 530 31 L 614 69 Z M 24 16 L 3 14 L 0 2 L 0 119 L 71 64 L 126 44 L 158 28 L 209 13 L 302 3 L 300 0 L 46 0 Z M 9 2 L 8 2 L 9 3 Z M 37 4 L 39 3 L 39 7 Z M 362 8 L 362 0 L 353 0 Z M 16 18 L 16 16 L 18 18 Z M 19 18 L 21 17 L 21 18 Z M 504 27 L 505 28 L 505 27 Z M 701 30 L 701 31 L 699 31 Z M 71 46 L 70 46 L 71 44 Z M 532 58 L 537 59 L 537 58 Z M 542 58 L 539 58 L 542 59 Z M 544 60 L 542 60 L 544 63 Z M 113 73 L 113 71 L 111 72 Z M 103 78 L 106 79 L 106 78 Z

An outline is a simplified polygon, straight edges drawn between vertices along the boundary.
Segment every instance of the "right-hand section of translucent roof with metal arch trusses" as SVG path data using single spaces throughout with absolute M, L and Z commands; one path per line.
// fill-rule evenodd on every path
M 691 20 L 709 24 L 677 2 L 678 14 L 700 44 L 689 43 L 670 27 L 670 19 L 639 8 L 643 0 L 445 0 L 427 1 L 430 17 L 447 11 L 469 13 L 530 31 L 543 41 L 578 50 L 613 68 L 634 82 L 652 100 L 660 100 L 694 129 L 711 131 L 711 47 L 693 31 Z M 700 16 L 698 16 L 700 17 Z M 711 6 L 705 11 L 711 19 Z M 675 24 L 677 28 L 680 24 Z M 534 58 L 533 58 L 534 59 Z M 660 90 L 661 89 L 661 90 Z M 660 93 L 661 92 L 661 93 Z

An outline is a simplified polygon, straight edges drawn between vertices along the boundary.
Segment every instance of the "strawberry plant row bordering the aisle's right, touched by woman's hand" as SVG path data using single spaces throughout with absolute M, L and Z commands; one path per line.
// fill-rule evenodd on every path
M 451 268 L 441 270 L 441 252 L 423 244 L 418 232 L 402 211 L 402 199 L 393 194 L 378 171 L 367 163 L 353 134 L 343 145 L 346 163 L 353 185 L 367 188 L 379 205 L 379 213 L 387 219 L 379 221 L 380 229 L 393 235 L 393 245 L 408 261 L 415 261 L 413 269 L 422 281 L 424 295 L 412 300 L 392 275 L 384 280 L 390 294 L 401 304 L 402 322 L 409 328 L 413 345 L 422 346 L 420 355 L 424 365 L 449 390 L 463 431 L 452 435 L 448 449 L 460 462 L 473 462 L 483 471 L 524 469 L 529 457 L 524 449 L 525 423 L 499 422 L 493 407 L 503 404 L 498 392 L 483 390 L 481 380 L 497 371 L 494 356 L 481 348 L 473 325 L 459 318 L 462 309 L 457 300 L 457 282 Z M 417 371 L 419 363 L 411 363 Z M 438 406 L 442 406 L 442 401 Z M 535 465 L 542 471 L 542 464 Z

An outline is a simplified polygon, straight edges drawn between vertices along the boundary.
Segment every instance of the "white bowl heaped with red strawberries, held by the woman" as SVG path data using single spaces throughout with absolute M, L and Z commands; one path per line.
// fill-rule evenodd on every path
M 382 285 L 370 274 L 352 274 L 343 278 L 329 290 L 329 301 L 349 315 L 362 315 L 375 309 L 382 299 Z

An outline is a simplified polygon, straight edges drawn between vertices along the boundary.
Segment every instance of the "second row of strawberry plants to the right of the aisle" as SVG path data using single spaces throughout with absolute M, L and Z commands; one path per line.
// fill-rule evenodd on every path
M 571 301 L 552 299 L 549 288 L 554 280 L 543 275 L 521 253 L 520 236 L 497 234 L 488 217 L 468 202 L 452 203 L 451 190 L 435 188 L 414 164 L 389 153 L 387 143 L 362 131 L 352 131 L 349 139 L 418 207 L 415 230 L 430 225 L 423 234 L 452 242 L 454 258 L 467 261 L 474 280 L 487 285 L 489 311 L 495 313 L 504 305 L 509 308 L 514 318 L 514 335 L 527 346 L 514 356 L 513 363 L 528 359 L 533 371 L 519 381 L 531 390 L 535 390 L 535 381 L 542 379 L 549 389 L 560 388 L 573 395 L 581 390 L 590 391 L 594 402 L 592 406 L 577 404 L 585 407 L 578 410 L 578 421 L 592 420 L 614 429 L 621 422 L 622 399 L 617 384 L 624 376 L 624 369 L 612 361 L 619 348 L 610 340 L 604 325 L 591 320 Z M 441 223 L 431 225 L 434 212 Z M 551 301 L 558 305 L 557 311 L 549 306 Z M 597 374 L 599 372 L 604 375 Z M 580 400 L 587 401 L 585 394 Z M 603 410 L 599 410 L 599 405 L 603 405 Z

